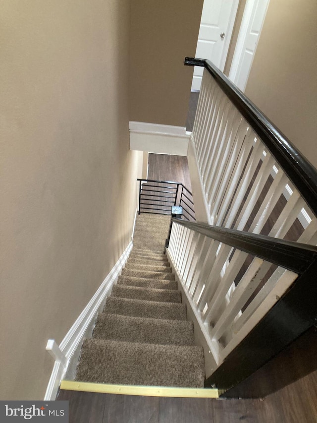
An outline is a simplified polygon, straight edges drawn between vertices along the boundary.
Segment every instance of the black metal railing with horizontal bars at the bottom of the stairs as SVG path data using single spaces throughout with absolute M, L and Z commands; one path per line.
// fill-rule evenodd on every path
M 138 179 L 139 214 L 171 214 L 173 206 L 183 208 L 183 219 L 195 221 L 193 194 L 181 182 Z

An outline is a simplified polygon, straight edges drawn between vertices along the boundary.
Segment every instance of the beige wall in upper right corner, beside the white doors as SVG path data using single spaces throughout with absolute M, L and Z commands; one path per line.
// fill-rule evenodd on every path
M 316 0 L 270 0 L 245 92 L 317 167 Z

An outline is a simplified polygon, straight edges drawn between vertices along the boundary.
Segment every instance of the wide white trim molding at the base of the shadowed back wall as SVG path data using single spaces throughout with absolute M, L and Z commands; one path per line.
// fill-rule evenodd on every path
M 130 150 L 187 156 L 191 132 L 182 126 L 129 122 Z

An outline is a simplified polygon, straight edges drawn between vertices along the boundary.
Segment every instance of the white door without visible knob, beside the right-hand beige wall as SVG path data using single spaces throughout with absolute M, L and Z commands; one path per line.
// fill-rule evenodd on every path
M 229 79 L 241 91 L 247 85 L 269 0 L 247 0 L 234 51 Z

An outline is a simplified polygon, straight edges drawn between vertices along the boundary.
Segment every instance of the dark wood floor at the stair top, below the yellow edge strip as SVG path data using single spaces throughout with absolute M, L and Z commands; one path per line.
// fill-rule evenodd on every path
M 296 382 L 298 383 L 298 382 Z M 261 400 L 157 398 L 60 391 L 69 423 L 316 423 L 317 403 L 305 380 Z M 315 396 L 316 398 L 316 396 Z

